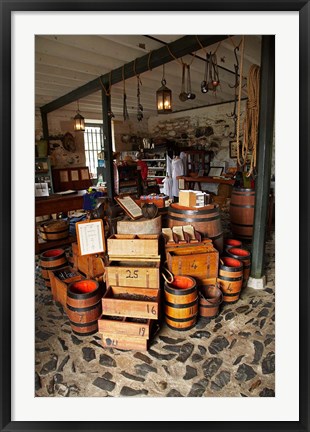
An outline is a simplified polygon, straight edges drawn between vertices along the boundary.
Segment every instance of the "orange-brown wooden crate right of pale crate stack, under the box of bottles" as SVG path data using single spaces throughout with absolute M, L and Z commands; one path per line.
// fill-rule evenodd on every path
M 168 269 L 172 274 L 192 276 L 198 285 L 216 282 L 219 253 L 212 245 L 169 248 L 166 256 Z

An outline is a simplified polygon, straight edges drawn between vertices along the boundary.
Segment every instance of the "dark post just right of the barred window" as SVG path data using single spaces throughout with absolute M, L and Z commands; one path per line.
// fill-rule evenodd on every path
M 111 117 L 108 113 L 111 112 L 111 96 L 101 91 L 102 97 L 102 120 L 103 120 L 103 134 L 106 137 L 104 154 L 106 166 L 106 182 L 108 197 L 113 198 L 114 192 L 114 169 L 113 169 L 113 148 L 112 148 L 112 127 Z

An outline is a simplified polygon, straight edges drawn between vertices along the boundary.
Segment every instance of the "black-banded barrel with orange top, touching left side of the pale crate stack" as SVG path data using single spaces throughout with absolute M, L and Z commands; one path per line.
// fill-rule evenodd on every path
M 92 279 L 68 285 L 66 312 L 74 333 L 88 336 L 98 331 L 102 294 L 99 283 Z

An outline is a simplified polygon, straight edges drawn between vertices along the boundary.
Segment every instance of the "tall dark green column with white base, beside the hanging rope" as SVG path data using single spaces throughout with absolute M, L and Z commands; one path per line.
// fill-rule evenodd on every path
M 255 215 L 252 243 L 251 277 L 248 286 L 264 288 L 264 251 L 270 191 L 272 142 L 274 131 L 275 98 L 275 38 L 262 37 L 260 107 L 255 183 Z

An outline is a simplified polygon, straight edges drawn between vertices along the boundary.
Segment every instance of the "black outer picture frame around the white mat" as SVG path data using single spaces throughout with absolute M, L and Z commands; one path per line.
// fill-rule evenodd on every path
M 299 421 L 292 422 L 23 422 L 12 421 L 11 416 L 11 13 L 13 11 L 298 11 L 300 24 L 299 71 L 300 71 L 300 130 L 299 130 L 299 317 L 300 317 L 300 362 L 299 362 Z M 164 431 L 164 430 L 213 430 L 232 431 L 310 431 L 309 427 L 309 0 L 295 1 L 194 1 L 194 2 L 145 2 L 135 1 L 23 1 L 0 2 L 1 15 L 1 82 L 0 82 L 0 307 L 1 307 L 1 364 L 0 400 L 1 431 Z M 232 18 L 233 19 L 233 18 Z M 288 29 L 289 31 L 289 29 Z M 297 287 L 296 287 L 297 289 Z M 289 379 L 289 371 L 288 371 Z M 103 404 L 104 405 L 104 404 Z M 104 406 L 103 406 L 104 409 Z M 151 408 L 150 408 L 151 409 Z M 207 409 L 207 400 L 206 400 Z M 223 411 L 225 407 L 223 407 Z M 159 413 L 160 416 L 160 413 Z

